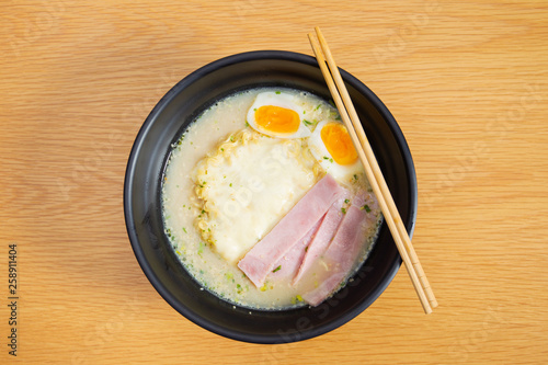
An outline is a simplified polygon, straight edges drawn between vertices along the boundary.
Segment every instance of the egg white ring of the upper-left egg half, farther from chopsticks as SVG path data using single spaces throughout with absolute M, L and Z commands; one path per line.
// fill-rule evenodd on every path
M 259 133 L 265 134 L 271 137 L 277 137 L 277 138 L 305 138 L 309 137 L 311 135 L 310 129 L 308 129 L 307 126 L 302 123 L 302 116 L 305 115 L 305 110 L 298 105 L 298 100 L 297 95 L 292 95 L 288 93 L 284 92 L 262 92 L 256 95 L 253 104 L 248 111 L 248 123 L 249 125 L 255 129 Z M 292 134 L 279 134 L 279 133 L 274 133 L 271 130 L 266 130 L 259 126 L 255 122 L 255 111 L 259 110 L 261 106 L 266 106 L 266 105 L 274 105 L 274 106 L 279 106 L 279 107 L 285 107 L 289 109 L 292 111 L 295 111 L 299 115 L 299 128 L 297 132 L 292 133 Z

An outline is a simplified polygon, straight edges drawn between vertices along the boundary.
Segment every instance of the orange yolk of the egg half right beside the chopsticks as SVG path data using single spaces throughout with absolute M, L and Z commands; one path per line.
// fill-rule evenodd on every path
M 352 164 L 357 160 L 357 152 L 350 138 L 349 130 L 340 123 L 328 123 L 321 128 L 321 140 L 333 160 L 339 164 Z

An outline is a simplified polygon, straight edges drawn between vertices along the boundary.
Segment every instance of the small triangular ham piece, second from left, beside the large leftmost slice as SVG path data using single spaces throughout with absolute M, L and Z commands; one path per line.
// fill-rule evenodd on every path
M 324 218 L 321 218 L 313 225 L 312 229 L 308 231 L 282 259 L 279 259 L 275 264 L 273 272 L 269 274 L 266 277 L 269 280 L 275 281 L 288 281 L 290 282 L 297 271 L 302 265 L 302 259 L 307 252 L 307 248 L 310 244 L 310 241 L 316 236 L 318 228 L 322 224 Z M 279 267 L 279 269 L 278 269 Z

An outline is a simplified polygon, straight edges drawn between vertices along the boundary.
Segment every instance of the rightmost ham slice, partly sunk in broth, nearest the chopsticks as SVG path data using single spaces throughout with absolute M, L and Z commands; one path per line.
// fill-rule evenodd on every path
M 366 221 L 364 209 L 349 207 L 326 253 L 310 269 L 313 275 L 308 276 L 313 276 L 315 283 L 308 280 L 308 289 L 301 295 L 309 305 L 318 306 L 329 298 L 350 274 L 364 243 Z

